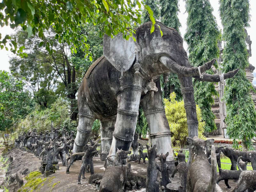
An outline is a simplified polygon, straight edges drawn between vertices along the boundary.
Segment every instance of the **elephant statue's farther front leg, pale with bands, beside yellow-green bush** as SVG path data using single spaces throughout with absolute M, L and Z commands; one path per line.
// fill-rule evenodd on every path
M 154 93 L 153 98 L 151 98 L 151 94 L 148 93 L 140 101 L 140 104 L 148 121 L 152 145 L 156 144 L 158 154 L 166 154 L 166 152 L 169 152 L 169 156 L 167 156 L 166 162 L 169 166 L 171 166 L 172 172 L 175 169 L 175 165 L 172 153 L 171 132 L 169 123 L 165 116 L 159 79 L 156 82 L 156 87 L 158 88 L 158 91 Z

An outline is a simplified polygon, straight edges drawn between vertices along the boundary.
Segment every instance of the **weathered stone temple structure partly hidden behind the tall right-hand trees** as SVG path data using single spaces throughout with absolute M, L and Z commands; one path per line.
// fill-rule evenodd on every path
M 252 41 L 250 39 L 250 36 L 247 34 L 246 29 L 245 33 L 246 33 L 246 38 L 245 38 L 245 42 L 248 46 L 247 52 L 249 54 L 249 57 L 252 56 L 252 49 L 251 49 L 251 44 Z M 218 59 L 218 64 L 219 64 L 219 69 L 216 70 L 215 67 L 212 67 L 214 74 L 221 74 L 221 65 L 220 63 L 222 62 L 222 51 L 223 48 L 221 48 L 221 42 L 218 43 L 219 49 L 220 49 L 220 58 Z M 248 59 L 249 59 L 248 57 Z M 246 72 L 246 78 L 252 83 L 253 81 L 253 70 L 255 69 L 255 67 L 252 66 L 252 64 L 249 65 L 249 67 L 245 68 L 245 72 Z M 215 123 L 217 126 L 217 130 L 214 132 L 211 132 L 211 135 L 222 135 L 225 136 L 225 128 L 227 127 L 227 125 L 224 123 L 224 120 L 227 116 L 227 111 L 226 111 L 226 104 L 225 101 L 222 100 L 223 94 L 224 94 L 224 87 L 225 87 L 225 81 L 220 81 L 218 84 L 215 84 L 215 89 L 216 91 L 219 92 L 220 97 L 215 97 L 214 96 L 214 104 L 212 105 L 212 112 L 214 113 L 214 115 L 216 116 L 215 118 Z M 252 87 L 254 89 L 256 89 L 256 87 L 254 85 L 252 85 Z M 256 93 L 253 92 L 253 90 L 251 90 L 250 94 L 252 95 L 252 100 L 254 102 L 255 108 L 256 108 Z

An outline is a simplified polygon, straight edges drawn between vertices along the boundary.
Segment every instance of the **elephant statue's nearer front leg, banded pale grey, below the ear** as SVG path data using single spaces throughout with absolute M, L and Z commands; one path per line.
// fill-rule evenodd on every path
M 108 156 L 115 155 L 117 148 L 130 150 L 139 115 L 141 92 L 141 86 L 128 85 L 117 95 L 115 131 Z

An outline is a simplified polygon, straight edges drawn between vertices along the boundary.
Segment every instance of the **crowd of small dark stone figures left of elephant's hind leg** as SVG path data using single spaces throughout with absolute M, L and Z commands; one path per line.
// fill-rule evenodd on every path
M 74 132 L 70 135 L 65 129 L 59 137 L 59 128 L 52 128 L 51 133 L 48 131 L 40 132 L 37 135 L 36 129 L 33 131 L 24 132 L 18 136 L 14 142 L 16 148 L 28 150 L 41 161 L 40 171 L 45 176 L 55 173 L 59 169 L 58 159 L 62 161 L 62 165 L 66 164 L 66 156 L 71 155 L 74 147 Z

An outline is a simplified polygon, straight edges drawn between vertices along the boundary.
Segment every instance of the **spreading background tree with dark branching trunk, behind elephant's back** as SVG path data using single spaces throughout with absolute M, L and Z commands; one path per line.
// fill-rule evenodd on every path
M 20 47 L 26 47 L 24 53 L 27 57 L 14 57 L 10 60 L 12 74 L 20 78 L 26 77 L 25 82 L 33 90 L 36 101 L 43 107 L 50 106 L 54 102 L 53 91 L 57 95 L 66 97 L 70 103 L 71 119 L 76 120 L 78 113 L 76 93 L 79 84 L 92 62 L 103 53 L 103 40 L 100 37 L 100 32 L 103 31 L 100 26 L 103 27 L 91 23 L 81 26 L 81 32 L 91 44 L 89 52 L 92 61 L 84 58 L 86 52 L 82 49 L 70 54 L 70 46 L 55 39 L 56 33 L 53 28 L 46 32 L 47 37 L 42 42 L 37 35 L 26 39 L 26 32 L 18 31 L 14 36 Z M 50 41 L 53 42 L 51 54 L 45 51 L 47 42 Z

